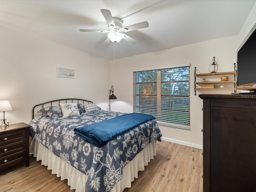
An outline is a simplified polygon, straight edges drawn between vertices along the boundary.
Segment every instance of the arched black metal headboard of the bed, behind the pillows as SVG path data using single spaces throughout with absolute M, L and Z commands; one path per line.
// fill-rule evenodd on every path
M 58 100 L 52 100 L 44 103 L 37 104 L 33 107 L 32 111 L 32 119 L 34 119 L 35 114 L 38 113 L 38 111 L 42 108 L 48 107 L 48 106 L 59 106 L 60 103 L 93 103 L 92 101 L 84 100 L 84 99 L 58 99 Z M 40 113 L 42 114 L 42 113 Z

